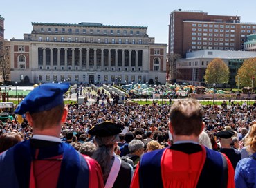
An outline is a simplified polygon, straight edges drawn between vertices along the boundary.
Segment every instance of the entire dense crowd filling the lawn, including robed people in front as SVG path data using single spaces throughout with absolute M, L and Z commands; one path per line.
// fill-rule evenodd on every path
M 45 99 L 38 99 L 34 93 L 34 95 L 28 95 L 21 102 L 16 113 L 20 115 L 26 113 L 23 122 L 18 122 L 18 118 L 16 118 L 13 121 L 7 120 L 0 123 L 0 153 L 24 140 L 35 145 L 35 149 L 30 151 L 33 153 L 32 161 L 35 160 L 33 176 L 42 173 L 37 168 L 49 162 L 49 160 L 43 160 L 44 162 L 41 164 L 41 160 L 37 161 L 38 158 L 56 159 L 58 152 L 64 152 L 59 151 L 60 143 L 68 143 L 68 146 L 76 150 L 73 155 L 78 156 L 76 159 L 78 162 L 81 160 L 81 163 L 90 164 L 84 168 L 88 169 L 94 178 L 100 179 L 102 176 L 102 180 L 99 180 L 98 185 L 94 185 L 94 187 L 102 185 L 105 187 L 142 187 L 142 185 L 143 187 L 196 187 L 196 185 L 205 187 L 203 185 L 208 180 L 205 178 L 206 176 L 212 177 L 215 173 L 215 176 L 219 177 L 221 173 L 216 173 L 218 170 L 223 171 L 222 163 L 218 166 L 218 162 L 216 162 L 216 169 L 213 168 L 211 172 L 205 170 L 206 167 L 213 167 L 212 160 L 217 160 L 217 158 L 221 162 L 226 161 L 227 174 L 225 177 L 228 178 L 221 180 L 219 177 L 219 180 L 212 186 L 253 187 L 256 185 L 253 175 L 250 174 L 250 171 L 253 170 L 251 165 L 255 165 L 256 162 L 256 103 L 247 106 L 235 102 L 228 105 L 223 102 L 221 106 L 210 104 L 201 106 L 196 100 L 188 99 L 171 102 L 171 104 L 118 104 L 116 95 L 115 100 L 109 100 L 106 93 L 98 92 L 95 95 L 97 100 L 93 104 L 85 101 L 84 104 L 71 102 L 62 106 L 63 97 L 61 98 L 60 94 L 63 95 L 68 86 L 55 88 L 55 85 L 58 84 L 53 84 L 55 92 L 47 87 L 40 86 L 41 88 L 38 88 L 38 90 L 45 91 L 45 96 L 43 95 Z M 39 135 L 47 136 L 41 138 Z M 48 136 L 60 138 L 60 140 L 48 138 Z M 37 141 L 35 142 L 35 140 Z M 38 140 L 43 141 L 41 143 Z M 56 149 L 58 152 L 54 152 L 52 156 L 44 153 L 51 151 L 51 149 L 48 150 L 48 142 L 59 148 Z M 207 149 L 199 147 L 198 142 L 206 146 Z M 64 145 L 66 146 L 66 144 Z M 12 158 L 15 158 L 15 152 L 22 147 L 28 146 L 24 144 L 17 148 L 17 151 L 11 149 L 7 151 L 12 151 Z M 44 147 L 47 149 L 42 151 L 42 156 L 40 156 Z M 166 148 L 170 150 L 166 151 Z M 67 147 L 66 150 L 69 151 L 70 147 Z M 158 153 L 158 151 L 164 151 L 164 153 Z M 86 157 L 81 159 L 77 153 L 82 154 L 81 156 L 86 155 Z M 114 156 L 113 153 L 115 153 Z M 208 158 L 208 153 L 214 156 L 214 159 Z M 219 153 L 225 153 L 224 157 Z M 8 164 L 5 155 L 8 155 L 8 152 L 4 152 L 0 156 L 0 171 L 5 169 L 1 168 L 3 163 Z M 162 158 L 161 162 L 157 160 L 158 158 Z M 173 169 L 168 169 L 165 163 L 170 162 L 171 158 L 175 165 L 171 165 Z M 62 164 L 56 161 L 51 160 L 51 165 L 54 164 L 60 171 Z M 191 161 L 195 165 L 190 164 Z M 205 163 L 201 163 L 201 161 L 205 161 Z M 180 166 L 179 171 L 185 169 L 185 166 L 182 169 L 183 165 L 181 164 L 192 165 L 192 172 L 177 175 L 177 166 Z M 112 166 L 118 167 L 118 165 L 120 173 L 114 174 Z M 159 167 L 156 167 L 157 165 Z M 30 167 L 30 165 L 28 166 Z M 21 165 L 21 167 L 24 166 Z M 95 168 L 94 171 L 91 170 L 92 167 Z M 24 168 L 28 169 L 28 167 Z M 154 169 L 155 173 L 152 173 Z M 248 176 L 244 174 L 244 171 L 248 173 Z M 85 170 L 84 173 L 86 173 Z M 256 173 L 255 168 L 254 173 Z M 60 171 L 60 174 L 64 174 L 64 172 Z M 73 177 L 73 181 L 76 181 L 78 186 L 84 180 L 79 178 L 82 176 L 81 174 L 75 174 L 77 177 Z M 88 175 L 88 173 L 86 174 Z M 139 174 L 143 174 L 143 176 L 139 176 Z M 52 175 L 50 173 L 47 177 Z M 84 176 L 87 177 L 87 175 Z M 158 176 L 160 176 L 159 179 Z M 188 178 L 188 176 L 193 178 Z M 31 173 L 28 177 L 31 178 Z M 150 177 L 155 178 L 154 183 Z M 234 178 L 235 182 L 232 182 Z M 112 182 L 111 179 L 114 181 Z M 65 178 L 63 180 L 55 178 L 53 182 L 54 185 L 62 185 L 65 181 Z M 25 182 L 17 178 L 17 181 L 13 183 L 28 185 L 29 179 Z M 43 187 L 51 185 L 51 182 L 39 182 L 37 179 L 34 183 Z

